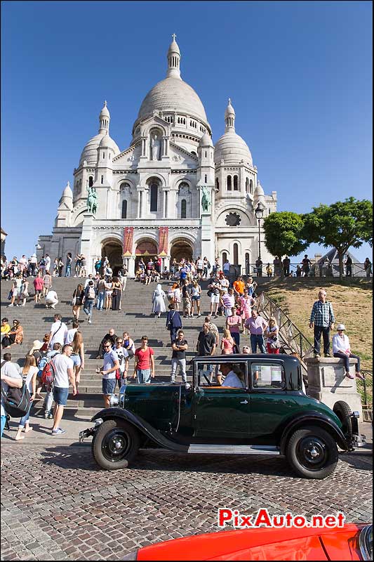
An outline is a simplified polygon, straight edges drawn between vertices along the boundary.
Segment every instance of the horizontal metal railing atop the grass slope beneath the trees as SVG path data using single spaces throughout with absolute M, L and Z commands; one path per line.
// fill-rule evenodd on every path
M 262 264 L 262 268 L 256 267 L 255 263 L 248 263 L 244 268 L 241 268 L 241 275 L 253 275 L 255 277 L 279 277 L 281 275 L 281 268 L 274 268 L 274 264 L 270 263 L 272 268 L 272 275 L 267 273 L 267 264 Z M 298 266 L 302 266 L 301 263 L 290 263 L 290 275 L 287 277 L 305 277 L 305 273 L 300 270 L 298 272 Z M 352 275 L 347 275 L 347 268 L 344 266 L 343 275 L 344 277 L 373 277 L 372 271 L 366 271 L 363 267 L 363 263 L 352 263 Z M 339 264 L 338 263 L 312 263 L 310 266 L 310 271 L 307 277 L 339 277 Z

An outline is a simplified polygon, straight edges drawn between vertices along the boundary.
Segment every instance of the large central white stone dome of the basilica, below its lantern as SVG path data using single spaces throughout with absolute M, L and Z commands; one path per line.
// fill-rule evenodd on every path
M 157 111 L 178 111 L 192 115 L 208 123 L 203 104 L 194 89 L 180 78 L 165 78 L 159 81 L 145 96 L 140 106 L 138 119 Z

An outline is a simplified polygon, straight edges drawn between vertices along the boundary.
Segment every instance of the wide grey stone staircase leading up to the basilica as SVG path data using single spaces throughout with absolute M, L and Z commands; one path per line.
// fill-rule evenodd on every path
M 32 277 L 29 277 L 30 285 L 29 292 L 34 294 L 32 287 Z M 1 282 L 1 318 L 9 319 L 12 324 L 13 319 L 17 318 L 24 329 L 24 341 L 21 345 L 11 346 L 10 351 L 12 360 L 23 365 L 25 355 L 32 347 L 32 342 L 35 339 L 43 340 L 44 334 L 48 333 L 53 322 L 53 314 L 55 312 L 62 315 L 62 321 L 67 324 L 68 328 L 72 327 L 72 294 L 79 279 L 53 277 L 53 289 L 58 294 L 59 303 L 56 310 L 46 309 L 43 299 L 41 304 L 35 304 L 30 296 L 27 299 L 26 306 L 6 308 L 9 304 L 7 301 L 8 292 L 11 289 L 11 281 Z M 163 289 L 167 293 L 168 287 L 171 282 L 162 282 Z M 189 344 L 189 351 L 187 351 L 188 359 L 194 357 L 196 350 L 196 341 L 199 331 L 203 325 L 204 316 L 208 313 L 210 308 L 210 299 L 206 295 L 207 282 L 202 282 L 201 294 L 201 317 L 192 319 L 182 319 L 185 337 Z M 98 355 L 98 346 L 102 337 L 108 332 L 109 328 L 113 327 L 117 336 L 122 336 L 126 330 L 129 332 L 135 346 L 140 346 L 140 339 L 142 335 L 147 335 L 149 339 L 149 346 L 152 346 L 155 354 L 155 372 L 156 382 L 166 382 L 170 379 L 171 371 L 171 344 L 170 332 L 166 330 L 166 313 L 161 315 L 160 319 L 154 318 L 151 315 L 152 311 L 152 293 L 156 285 L 151 283 L 145 285 L 129 279 L 126 285 L 126 291 L 122 294 L 121 311 L 96 311 L 93 309 L 93 323 L 88 324 L 86 315 L 81 308 L 81 315 L 79 317 L 80 331 L 84 337 L 85 348 L 85 368 L 81 372 L 81 382 L 79 384 L 79 395 L 74 398 L 69 395 L 66 411 L 72 415 L 79 414 L 94 414 L 103 406 L 102 400 L 102 377 L 96 374 L 95 369 L 97 366 L 102 366 L 102 360 L 96 359 Z M 167 299 L 166 308 L 167 308 Z M 222 332 L 225 325 L 225 318 L 218 317 L 214 320 L 220 332 Z M 242 341 L 243 336 L 241 336 Z M 248 336 L 245 336 L 246 343 Z M 4 351 L 1 352 L 2 354 Z M 130 360 L 130 373 L 133 373 L 134 360 Z M 187 377 L 190 380 L 191 373 L 187 369 Z M 180 380 L 177 373 L 176 380 Z M 118 391 L 118 387 L 117 387 Z M 44 395 L 44 393 L 42 393 Z M 42 410 L 43 400 L 35 401 L 34 412 L 40 414 Z

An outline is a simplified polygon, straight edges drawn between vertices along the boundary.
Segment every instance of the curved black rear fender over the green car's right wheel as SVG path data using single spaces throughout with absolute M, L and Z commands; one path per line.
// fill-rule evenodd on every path
M 297 429 L 300 429 L 302 426 L 308 425 L 319 426 L 321 427 L 321 429 L 328 431 L 328 433 L 330 433 L 330 436 L 335 439 L 336 443 L 338 443 L 340 449 L 345 451 L 351 449 L 351 447 L 349 447 L 349 444 L 347 443 L 347 439 L 345 438 L 344 433 L 333 420 L 321 414 L 320 412 L 305 412 L 301 415 L 299 414 L 293 419 L 288 420 L 286 426 L 283 426 L 283 428 L 281 429 L 281 441 L 279 445 L 281 455 L 286 455 L 286 446 L 291 434 Z

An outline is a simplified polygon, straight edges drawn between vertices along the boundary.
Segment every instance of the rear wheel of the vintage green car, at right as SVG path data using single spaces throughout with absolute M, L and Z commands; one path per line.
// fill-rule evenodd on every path
M 317 426 L 298 429 L 290 436 L 286 458 L 304 478 L 326 478 L 338 464 L 338 447 L 330 433 Z

